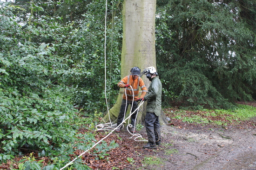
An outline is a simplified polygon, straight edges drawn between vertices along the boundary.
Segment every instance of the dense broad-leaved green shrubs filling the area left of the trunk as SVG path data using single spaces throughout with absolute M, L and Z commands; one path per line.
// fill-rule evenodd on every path
M 91 6 L 101 6 L 99 9 L 103 10 L 102 4 L 94 2 Z M 53 162 L 44 170 L 54 170 L 67 164 L 74 151 L 85 151 L 95 141 L 93 134 L 77 132 L 83 124 L 76 123 L 81 121 L 81 112 L 75 108 L 84 107 L 87 112 L 105 108 L 104 23 L 94 22 L 104 15 L 92 19 L 93 13 L 85 13 L 87 17 L 81 23 L 69 21 L 62 25 L 62 18 L 44 11 L 53 4 L 31 5 L 0 2 L 0 161 L 35 151 Z M 28 20 L 31 9 L 33 20 Z M 120 23 L 116 20 L 117 31 Z M 92 31 L 90 25 L 101 31 Z M 109 32 L 108 40 L 121 37 L 111 37 Z M 111 99 L 117 92 L 115 88 L 110 90 L 110 82 L 117 83 L 116 75 L 120 74 L 120 48 L 114 45 L 115 49 L 107 46 L 111 55 L 107 90 Z M 97 146 L 95 153 L 104 157 L 115 146 Z M 78 161 L 71 167 L 89 169 L 82 164 Z M 20 170 L 37 170 L 41 166 L 33 156 L 25 157 L 19 164 Z

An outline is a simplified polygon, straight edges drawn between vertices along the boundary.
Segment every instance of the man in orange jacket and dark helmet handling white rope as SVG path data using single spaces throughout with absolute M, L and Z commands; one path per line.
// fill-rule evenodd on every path
M 143 98 L 145 94 L 148 92 L 143 80 L 140 77 L 140 74 L 141 74 L 141 69 L 139 69 L 138 67 L 133 67 L 131 69 L 131 74 L 129 76 L 124 77 L 117 84 L 118 87 L 120 88 L 126 88 L 125 89 L 126 91 L 123 94 L 121 108 L 117 118 L 117 126 L 119 126 L 124 120 L 129 104 L 132 106 L 132 113 L 133 113 L 136 110 L 138 105 L 137 100 L 140 98 Z M 141 87 L 141 90 L 142 90 L 140 97 L 139 97 L 139 86 Z M 127 102 L 127 105 L 126 105 L 126 102 Z M 132 125 L 131 131 L 132 132 L 135 132 L 136 113 L 137 111 L 131 115 L 131 125 Z M 121 131 L 121 126 L 118 129 L 116 129 L 115 132 L 120 132 L 120 131 Z

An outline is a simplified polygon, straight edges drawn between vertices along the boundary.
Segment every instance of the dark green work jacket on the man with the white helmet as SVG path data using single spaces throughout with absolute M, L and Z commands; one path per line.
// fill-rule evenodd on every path
M 152 78 L 152 82 L 148 88 L 148 94 L 145 95 L 144 99 L 148 101 L 146 111 L 160 116 L 162 109 L 162 82 L 159 76 Z

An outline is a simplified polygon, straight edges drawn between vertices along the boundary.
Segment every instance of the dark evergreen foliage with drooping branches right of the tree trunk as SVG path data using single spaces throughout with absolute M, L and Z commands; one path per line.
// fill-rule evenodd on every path
M 164 88 L 188 106 L 230 108 L 256 86 L 255 1 L 158 1 L 156 57 Z M 164 103 L 173 99 L 164 96 Z

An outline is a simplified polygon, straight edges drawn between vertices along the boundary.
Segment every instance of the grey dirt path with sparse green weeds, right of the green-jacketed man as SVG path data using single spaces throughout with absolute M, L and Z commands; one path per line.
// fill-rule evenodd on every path
M 165 126 L 161 131 L 162 145 L 146 154 L 161 158 L 162 164 L 141 170 L 256 170 L 255 126 Z

